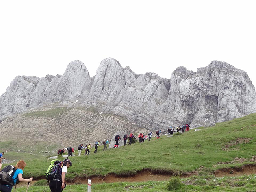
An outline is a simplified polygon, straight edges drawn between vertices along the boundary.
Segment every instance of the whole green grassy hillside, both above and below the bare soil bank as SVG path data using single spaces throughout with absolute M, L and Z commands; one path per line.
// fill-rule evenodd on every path
M 75 185 L 68 185 L 66 191 L 85 191 L 87 185 L 80 184 L 81 178 L 128 176 L 141 171 L 151 171 L 168 175 L 198 175 L 183 178 L 180 191 L 254 191 L 256 175 L 254 166 L 245 166 L 248 176 L 223 177 L 219 171 L 226 168 L 254 165 L 256 161 L 256 114 L 250 114 L 229 122 L 217 124 L 215 127 L 201 128 L 188 133 L 160 139 L 153 138 L 150 142 L 136 142 L 132 146 L 102 151 L 91 150 L 89 156 L 70 157 L 73 162 L 69 168 L 67 179 Z M 13 145 L 12 142 L 0 143 L 1 148 Z M 40 150 L 38 146 L 37 151 Z M 77 152 L 76 152 L 77 155 Z M 27 166 L 24 177 L 42 179 L 50 159 L 41 154 L 10 152 L 7 159 L 25 159 Z M 13 163 L 15 164 L 15 163 Z M 4 164 L 5 165 L 5 164 Z M 228 169 L 229 168 L 229 169 Z M 217 170 L 217 171 L 216 171 Z M 213 175 L 215 174 L 215 175 Z M 38 181 L 39 184 L 45 181 Z M 167 191 L 168 181 L 148 181 L 136 183 L 103 183 L 93 184 L 93 191 Z M 44 184 L 45 185 L 45 184 Z M 24 191 L 19 187 L 17 191 Z M 47 186 L 32 186 L 30 191 L 49 191 Z

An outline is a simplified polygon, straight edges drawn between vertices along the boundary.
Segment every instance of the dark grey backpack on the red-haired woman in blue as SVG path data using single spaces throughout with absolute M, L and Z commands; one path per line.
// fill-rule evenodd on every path
M 16 168 L 13 165 L 8 165 L 4 167 L 0 171 L 0 183 L 13 186 L 14 185 L 13 174 L 15 171 L 16 171 Z

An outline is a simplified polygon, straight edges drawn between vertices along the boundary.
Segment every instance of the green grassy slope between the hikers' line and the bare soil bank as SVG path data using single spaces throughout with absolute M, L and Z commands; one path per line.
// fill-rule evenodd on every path
M 242 128 L 243 127 L 243 128 Z M 252 163 L 249 159 L 255 155 L 256 114 L 238 118 L 230 122 L 217 124 L 215 127 L 193 130 L 184 135 L 160 139 L 150 142 L 135 143 L 118 149 L 102 151 L 102 146 L 95 155 L 93 150 L 89 156 L 71 157 L 73 166 L 69 168 L 67 177 L 88 177 L 106 175 L 108 173 L 134 174 L 144 168 L 168 172 L 193 171 L 204 166 L 206 171 L 242 164 L 220 164 L 235 157 L 247 158 L 244 163 Z M 238 144 L 224 151 L 222 148 L 236 138 L 252 138 L 247 144 Z M 84 151 L 83 151 L 84 152 Z M 50 160 L 38 159 L 30 161 L 24 173 L 26 177 L 40 177 L 45 172 Z

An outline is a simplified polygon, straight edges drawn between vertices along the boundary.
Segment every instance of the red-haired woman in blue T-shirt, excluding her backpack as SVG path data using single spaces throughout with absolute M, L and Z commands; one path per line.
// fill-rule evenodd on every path
M 26 163 L 23 160 L 18 161 L 16 166 L 14 166 L 15 167 L 15 172 L 14 172 L 13 177 L 12 177 L 14 185 L 16 185 L 17 180 L 19 180 L 19 182 L 31 182 L 33 180 L 33 177 L 31 177 L 29 179 L 22 178 L 23 170 L 24 170 L 25 166 L 26 166 Z M 5 168 L 7 168 L 7 166 L 4 167 L 2 171 L 4 171 Z M 11 192 L 11 190 L 14 186 L 13 184 L 11 184 L 11 183 L 10 184 L 8 184 L 8 183 L 1 184 L 0 185 L 0 191 L 1 192 Z

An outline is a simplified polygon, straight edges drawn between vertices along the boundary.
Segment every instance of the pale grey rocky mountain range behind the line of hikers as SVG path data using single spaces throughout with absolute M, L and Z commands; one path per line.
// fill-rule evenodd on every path
M 6 140 L 77 144 L 111 138 L 117 131 L 165 130 L 223 122 L 256 112 L 256 92 L 246 72 L 221 61 L 178 67 L 170 79 L 136 74 L 104 59 L 90 77 L 72 61 L 63 75 L 17 76 L 0 97 L 0 129 Z M 56 135 L 59 131 L 69 133 Z

